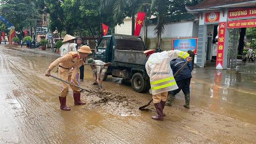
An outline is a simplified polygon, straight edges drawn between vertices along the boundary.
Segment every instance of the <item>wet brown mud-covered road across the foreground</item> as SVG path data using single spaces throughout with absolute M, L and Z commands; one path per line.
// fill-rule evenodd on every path
M 60 82 L 44 72 L 57 56 L 0 47 L 0 143 L 255 143 L 256 76 L 236 71 L 195 69 L 191 106 L 183 94 L 166 107 L 163 122 L 154 121 L 151 95 L 128 82 L 108 77 L 103 93 L 85 67 L 85 106 L 74 106 L 71 92 L 59 109 Z M 246 66 L 255 68 L 248 63 Z M 52 71 L 52 75 L 58 76 Z

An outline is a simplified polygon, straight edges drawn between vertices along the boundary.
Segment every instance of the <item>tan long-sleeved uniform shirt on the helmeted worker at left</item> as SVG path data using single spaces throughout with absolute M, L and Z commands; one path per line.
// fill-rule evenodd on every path
M 71 79 L 75 80 L 79 67 L 81 67 L 83 64 L 84 60 L 79 57 L 78 52 L 69 52 L 63 57 L 60 57 L 57 60 L 53 61 L 49 66 L 49 69 L 52 70 L 56 66 L 60 66 L 66 69 L 73 68 Z

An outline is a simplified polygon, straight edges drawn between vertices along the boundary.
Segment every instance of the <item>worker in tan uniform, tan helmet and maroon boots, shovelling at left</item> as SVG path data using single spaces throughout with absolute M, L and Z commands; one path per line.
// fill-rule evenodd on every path
M 84 64 L 84 60 L 86 57 L 91 54 L 91 49 L 89 46 L 83 45 L 78 50 L 78 52 L 69 52 L 68 54 L 64 55 L 63 57 L 58 58 L 54 62 L 51 63 L 49 68 L 47 69 L 45 75 L 51 76 L 51 70 L 58 66 L 59 67 L 59 75 L 60 78 L 70 82 L 71 89 L 73 90 L 73 97 L 75 105 L 85 105 L 84 102 L 81 101 L 81 93 L 80 89 L 75 87 L 74 85 L 78 85 L 76 75 L 78 73 L 79 67 Z M 70 107 L 66 105 L 66 97 L 68 95 L 68 84 L 61 83 L 62 90 L 60 92 L 60 109 L 62 110 L 70 110 Z

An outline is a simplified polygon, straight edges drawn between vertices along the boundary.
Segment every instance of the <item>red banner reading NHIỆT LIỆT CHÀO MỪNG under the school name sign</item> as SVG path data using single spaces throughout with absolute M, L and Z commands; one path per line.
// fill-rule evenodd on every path
M 228 28 L 249 28 L 256 27 L 256 19 L 229 21 Z

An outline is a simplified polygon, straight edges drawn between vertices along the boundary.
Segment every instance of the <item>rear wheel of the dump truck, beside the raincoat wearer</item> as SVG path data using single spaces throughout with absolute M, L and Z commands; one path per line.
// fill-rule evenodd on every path
M 148 82 L 145 81 L 142 74 L 135 73 L 132 76 L 132 88 L 134 91 L 137 91 L 139 93 L 145 92 L 148 87 Z

